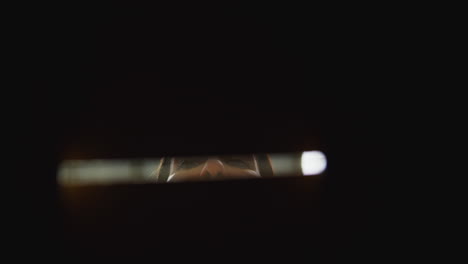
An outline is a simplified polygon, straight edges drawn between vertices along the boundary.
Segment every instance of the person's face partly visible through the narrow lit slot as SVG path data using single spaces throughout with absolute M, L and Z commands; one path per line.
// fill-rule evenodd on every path
M 174 158 L 168 182 L 258 178 L 253 155 Z

